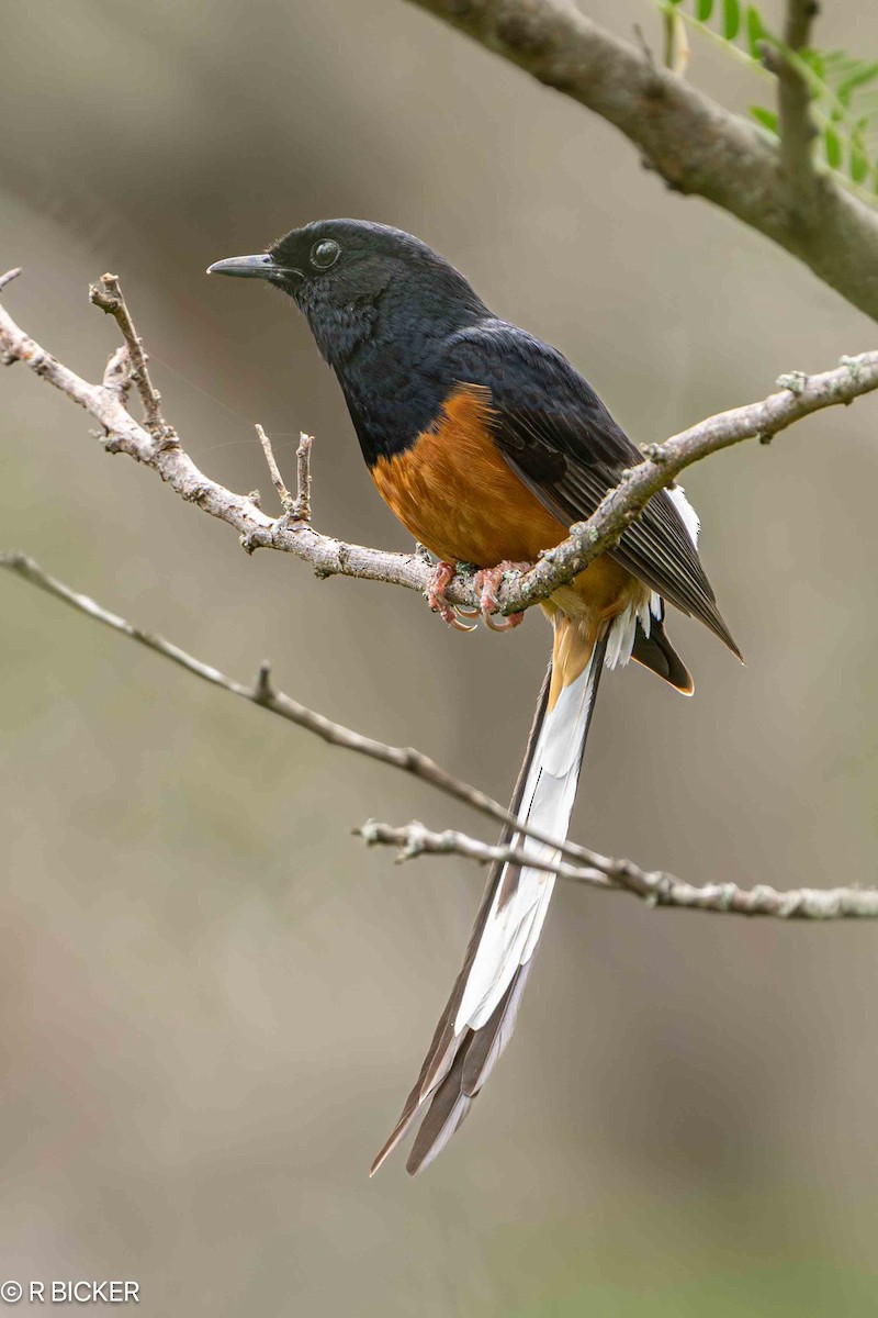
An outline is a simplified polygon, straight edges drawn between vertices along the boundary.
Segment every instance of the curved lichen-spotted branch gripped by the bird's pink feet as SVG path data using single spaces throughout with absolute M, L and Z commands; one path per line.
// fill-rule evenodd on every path
M 253 497 L 234 494 L 212 481 L 183 451 L 170 427 L 154 432 L 145 430 L 125 410 L 118 387 L 88 384 L 62 365 L 25 335 L 3 306 L 0 347 L 4 360 L 25 361 L 38 376 L 91 413 L 107 431 L 104 447 L 109 452 L 128 453 L 151 467 L 182 498 L 236 527 L 247 552 L 257 548 L 283 550 L 311 563 L 320 577 L 353 576 L 404 585 L 421 593 L 426 590 L 430 567 L 423 556 L 346 544 L 320 535 L 307 521 L 291 519 L 286 514 L 272 519 L 259 509 Z M 811 413 L 850 403 L 878 387 L 878 352 L 842 357 L 841 362 L 840 368 L 819 376 L 808 377 L 803 372 L 781 376 L 781 393 L 708 416 L 663 444 L 648 445 L 646 460 L 627 473 L 587 522 L 571 527 L 571 535 L 546 551 L 532 571 L 503 583 L 498 590 L 498 612 L 509 614 L 530 608 L 557 587 L 571 581 L 592 559 L 616 543 L 657 490 L 670 485 L 690 464 L 746 439 L 766 442 Z M 294 518 L 296 507 L 303 507 L 303 490 L 304 507 L 309 510 L 308 452 L 309 445 L 303 440 L 299 447 L 300 484 L 299 497 L 294 502 Z M 452 580 L 445 594 L 453 605 L 478 609 L 480 604 L 471 579 L 461 575 Z

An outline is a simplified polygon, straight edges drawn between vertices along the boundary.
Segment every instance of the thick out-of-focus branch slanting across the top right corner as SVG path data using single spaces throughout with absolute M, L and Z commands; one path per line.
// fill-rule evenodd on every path
M 878 212 L 829 174 L 802 224 L 778 149 L 571 0 L 409 0 L 613 124 L 677 192 L 713 202 L 878 319 Z

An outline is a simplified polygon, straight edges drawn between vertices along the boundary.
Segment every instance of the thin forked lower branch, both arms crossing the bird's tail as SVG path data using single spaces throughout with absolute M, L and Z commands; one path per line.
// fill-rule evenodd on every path
M 32 585 L 46 590 L 49 594 L 63 600 L 74 609 L 86 614 L 96 622 L 101 622 L 115 631 L 137 641 L 155 654 L 170 659 L 187 672 L 209 681 L 215 687 L 249 700 L 274 714 L 304 728 L 332 746 L 353 750 L 367 755 L 380 763 L 400 768 L 407 774 L 438 787 L 441 791 L 455 797 L 467 805 L 474 807 L 483 815 L 492 818 L 508 820 L 508 812 L 496 801 L 470 787 L 461 779 L 448 774 L 433 760 L 419 751 L 404 750 L 396 746 L 387 746 L 383 742 L 363 737 L 361 733 L 342 724 L 334 724 L 321 714 L 307 709 L 283 692 L 275 691 L 271 684 L 269 664 L 262 664 L 253 687 L 244 685 L 226 677 L 225 673 L 211 664 L 195 659 L 180 650 L 179 646 L 166 641 L 154 633 L 143 631 L 125 618 L 104 609 L 88 596 L 72 590 L 63 581 L 51 577 L 47 572 L 21 554 L 0 554 L 0 567 L 14 572 L 18 577 Z M 384 845 L 400 849 L 399 859 L 411 859 L 416 855 L 463 855 L 479 863 L 492 861 L 511 861 L 513 863 L 529 863 L 530 858 L 527 846 L 490 846 L 478 838 L 469 837 L 448 829 L 434 833 L 424 828 L 423 824 L 411 822 L 404 828 L 391 828 L 375 820 L 369 820 L 362 828 L 355 830 L 367 845 Z M 520 832 L 528 832 L 520 829 Z M 537 841 L 546 841 L 538 833 L 529 833 Z M 550 840 L 549 840 L 550 841 Z M 683 883 L 670 874 L 650 873 L 641 870 L 632 861 L 613 859 L 590 851 L 586 847 L 565 844 L 553 844 L 555 850 L 565 850 L 578 859 L 579 863 L 569 861 L 544 859 L 540 857 L 540 866 L 553 874 L 559 875 L 573 883 L 584 883 L 590 887 L 606 888 L 608 891 L 629 892 L 641 898 L 649 905 L 678 907 L 691 911 L 712 911 L 736 915 L 762 915 L 778 916 L 781 919 L 811 919 L 832 920 L 841 917 L 878 917 L 878 890 L 875 888 L 798 888 L 788 892 L 778 892 L 775 888 L 757 886 L 752 890 L 738 888 L 733 883 L 711 883 L 696 887 Z

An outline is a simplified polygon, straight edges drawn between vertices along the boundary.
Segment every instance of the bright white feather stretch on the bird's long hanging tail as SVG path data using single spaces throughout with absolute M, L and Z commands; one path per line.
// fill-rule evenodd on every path
M 570 826 L 603 650 L 603 645 L 596 646 L 583 672 L 546 713 L 521 796 L 519 818 L 558 840 L 566 838 Z M 524 849 L 534 865 L 520 871 L 511 895 L 504 882 L 508 866 L 503 869 L 454 1020 L 455 1035 L 467 1027 L 479 1029 L 490 1020 L 519 966 L 533 956 L 546 917 L 554 875 L 541 870 L 538 862 L 554 861 L 558 853 L 520 833 L 512 845 Z

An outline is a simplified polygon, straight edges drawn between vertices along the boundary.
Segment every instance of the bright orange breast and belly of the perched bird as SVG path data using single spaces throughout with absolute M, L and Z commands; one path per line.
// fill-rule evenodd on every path
M 480 568 L 504 560 L 533 563 L 540 550 L 566 539 L 567 527 L 504 461 L 488 430 L 490 416 L 490 391 L 461 385 L 409 448 L 378 459 L 373 480 L 403 526 L 437 558 Z M 590 612 L 602 616 L 620 612 L 633 584 L 607 558 L 596 559 L 573 583 Z

